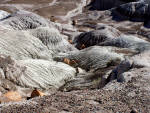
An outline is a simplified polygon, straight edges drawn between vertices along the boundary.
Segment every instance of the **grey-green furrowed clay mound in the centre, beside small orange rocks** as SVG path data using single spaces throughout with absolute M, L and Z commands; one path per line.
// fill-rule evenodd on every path
M 123 59 L 123 55 L 117 54 L 109 47 L 93 46 L 80 51 L 60 53 L 54 59 L 64 61 L 67 58 L 73 62 L 74 66 L 85 70 L 96 70 L 115 65 Z

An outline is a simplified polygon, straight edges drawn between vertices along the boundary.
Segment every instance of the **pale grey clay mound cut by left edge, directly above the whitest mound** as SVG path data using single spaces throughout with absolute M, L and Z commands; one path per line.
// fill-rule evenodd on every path
M 22 31 L 0 31 L 0 54 L 14 59 L 50 59 L 48 48 L 37 38 Z

